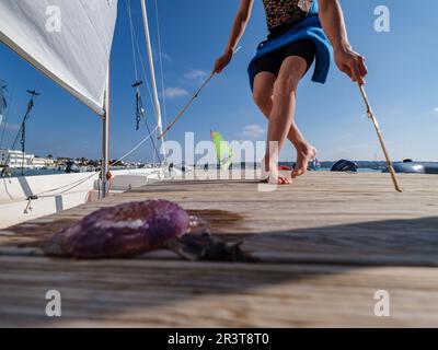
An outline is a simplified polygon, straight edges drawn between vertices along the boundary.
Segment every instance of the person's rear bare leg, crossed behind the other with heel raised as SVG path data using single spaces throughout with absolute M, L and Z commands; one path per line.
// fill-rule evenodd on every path
M 297 60 L 301 58 L 295 57 Z M 304 68 L 306 69 L 306 68 Z M 274 106 L 274 85 L 277 77 L 270 72 L 261 72 L 254 79 L 254 101 L 261 112 L 266 118 L 269 115 Z M 289 132 L 287 135 L 289 141 L 293 144 L 297 150 L 297 165 L 292 173 L 292 177 L 300 176 L 306 173 L 308 168 L 309 161 L 316 156 L 315 149 L 306 140 L 295 120 L 292 118 Z

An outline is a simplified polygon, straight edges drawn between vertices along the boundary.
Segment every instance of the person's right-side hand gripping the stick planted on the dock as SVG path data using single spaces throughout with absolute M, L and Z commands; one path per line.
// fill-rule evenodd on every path
M 339 70 L 346 73 L 354 82 L 365 84 L 365 75 L 368 74 L 364 56 L 355 52 L 349 45 L 335 49 L 335 61 Z

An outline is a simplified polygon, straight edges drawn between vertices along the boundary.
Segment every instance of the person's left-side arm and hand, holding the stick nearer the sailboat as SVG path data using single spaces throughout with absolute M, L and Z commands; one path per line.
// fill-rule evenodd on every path
M 251 12 L 253 9 L 254 0 L 241 0 L 238 14 L 231 28 L 230 38 L 228 40 L 224 52 L 216 60 L 214 73 L 220 73 L 231 61 L 235 47 L 240 38 L 245 32 L 246 24 L 250 21 Z

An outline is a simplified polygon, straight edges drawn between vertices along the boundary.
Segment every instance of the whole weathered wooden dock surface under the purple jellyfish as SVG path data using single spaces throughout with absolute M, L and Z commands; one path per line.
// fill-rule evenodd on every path
M 171 180 L 0 231 L 0 326 L 437 327 L 438 176 L 400 179 L 403 194 L 385 174 L 310 173 L 276 191 Z M 149 198 L 178 202 L 261 261 L 42 255 L 41 242 L 95 209 Z M 61 293 L 59 318 L 45 315 L 48 290 Z M 374 315 L 379 290 L 389 317 Z

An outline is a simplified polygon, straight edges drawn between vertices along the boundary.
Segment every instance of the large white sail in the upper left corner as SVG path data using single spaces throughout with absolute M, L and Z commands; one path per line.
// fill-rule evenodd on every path
M 117 0 L 1 0 L 0 40 L 104 114 Z

